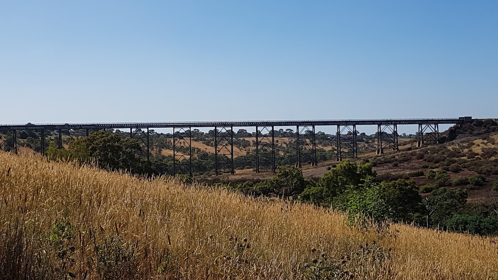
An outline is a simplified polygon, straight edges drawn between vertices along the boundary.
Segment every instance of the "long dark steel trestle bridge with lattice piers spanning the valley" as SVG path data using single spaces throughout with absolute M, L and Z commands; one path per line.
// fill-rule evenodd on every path
M 234 127 L 255 127 L 256 172 L 275 171 L 274 127 L 296 127 L 296 166 L 306 162 L 317 164 L 315 127 L 337 126 L 336 148 L 338 161 L 358 156 L 357 126 L 377 126 L 377 154 L 385 149 L 398 150 L 398 125 L 418 125 L 417 146 L 439 142 L 440 124 L 464 124 L 472 117 L 454 119 L 384 119 L 384 120 L 308 120 L 308 121 L 235 121 L 235 122 L 176 122 L 176 123 L 94 123 L 94 124 L 27 124 L 0 125 L 0 149 L 17 153 L 17 132 L 37 131 L 40 134 L 41 153 L 46 140 L 52 137 L 62 148 L 63 130 L 129 129 L 130 138 L 145 146 L 150 156 L 149 129 L 173 129 L 173 173 L 192 174 L 192 128 L 214 128 L 215 170 L 234 173 Z

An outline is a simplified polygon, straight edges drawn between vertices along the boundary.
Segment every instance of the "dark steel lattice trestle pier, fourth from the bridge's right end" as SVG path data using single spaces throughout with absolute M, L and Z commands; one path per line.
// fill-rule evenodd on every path
M 316 166 L 316 140 L 315 126 L 296 126 L 296 167 L 300 168 L 302 162 L 309 162 Z

